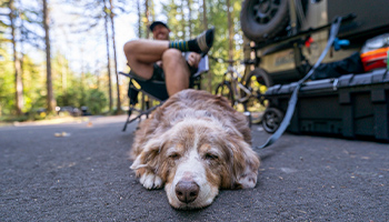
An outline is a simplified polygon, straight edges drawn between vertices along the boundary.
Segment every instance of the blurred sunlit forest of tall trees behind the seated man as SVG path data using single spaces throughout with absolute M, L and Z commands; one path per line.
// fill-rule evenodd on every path
M 126 41 L 150 39 L 161 20 L 170 39 L 216 27 L 212 57 L 242 59 L 239 0 L 0 0 L 0 121 L 58 115 L 59 107 L 91 114 L 128 107 Z M 227 64 L 210 60 L 202 89 L 213 92 Z M 245 67 L 240 67 L 240 71 Z

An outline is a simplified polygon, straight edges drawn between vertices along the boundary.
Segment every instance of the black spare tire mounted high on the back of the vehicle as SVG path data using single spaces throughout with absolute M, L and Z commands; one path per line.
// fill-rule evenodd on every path
M 245 0 L 240 23 L 245 36 L 256 42 L 276 37 L 289 21 L 288 0 Z

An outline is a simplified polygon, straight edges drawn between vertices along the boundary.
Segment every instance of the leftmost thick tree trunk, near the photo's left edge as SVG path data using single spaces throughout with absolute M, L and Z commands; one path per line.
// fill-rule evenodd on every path
M 14 2 L 13 0 L 9 1 L 9 8 L 10 13 L 9 18 L 11 21 L 11 38 L 12 38 L 12 51 L 13 51 L 13 68 L 14 68 L 14 88 L 16 88 L 16 111 L 17 115 L 22 114 L 22 107 L 23 107 L 23 84 L 21 80 L 21 63 L 18 58 L 18 51 L 17 51 L 17 41 L 16 41 L 16 27 L 14 27 L 14 19 L 16 19 L 16 11 L 14 11 Z

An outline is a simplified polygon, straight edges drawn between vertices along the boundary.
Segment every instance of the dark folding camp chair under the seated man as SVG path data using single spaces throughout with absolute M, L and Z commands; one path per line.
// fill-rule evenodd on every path
M 201 89 L 201 75 L 209 70 L 209 63 L 208 63 L 208 56 L 203 57 L 198 67 L 198 71 L 190 77 L 189 80 L 189 88 L 191 89 Z M 157 109 L 159 105 L 163 103 L 164 100 L 169 98 L 167 88 L 166 88 L 166 82 L 164 81 L 159 81 L 159 80 L 142 80 L 138 75 L 136 75 L 133 72 L 124 73 L 124 72 L 119 72 L 120 74 L 123 74 L 128 78 L 130 78 L 129 81 L 129 88 L 128 88 L 128 97 L 130 99 L 130 105 L 129 105 L 129 111 L 128 111 L 128 117 L 127 121 L 124 123 L 124 127 L 122 131 L 126 131 L 127 125 L 137 119 L 141 119 L 142 115 L 149 115 L 151 111 Z M 159 102 L 158 105 L 154 107 L 149 107 L 149 102 L 146 103 L 144 109 L 137 109 L 136 104 L 138 103 L 138 93 L 142 92 L 144 95 L 148 98 L 156 100 Z M 139 114 L 134 118 L 131 119 L 132 112 L 136 111 Z

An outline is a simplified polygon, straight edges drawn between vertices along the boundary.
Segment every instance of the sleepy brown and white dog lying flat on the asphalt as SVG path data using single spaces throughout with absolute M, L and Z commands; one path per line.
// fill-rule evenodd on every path
M 260 161 L 250 143 L 247 118 L 226 99 L 183 90 L 140 124 L 131 169 L 147 189 L 164 184 L 173 208 L 203 208 L 219 189 L 256 185 Z

